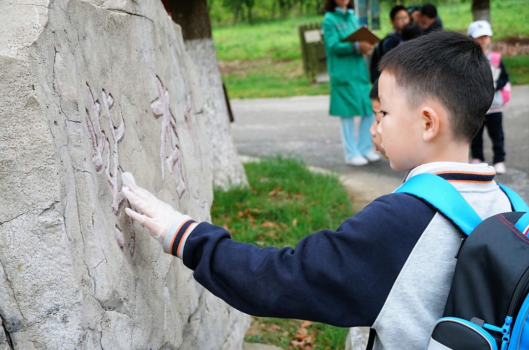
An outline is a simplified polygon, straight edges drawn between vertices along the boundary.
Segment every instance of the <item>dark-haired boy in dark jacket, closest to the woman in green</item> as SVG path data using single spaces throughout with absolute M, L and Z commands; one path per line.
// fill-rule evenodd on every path
M 378 70 L 378 62 L 382 56 L 386 55 L 391 49 L 396 48 L 400 43 L 403 42 L 402 39 L 402 30 L 406 24 L 409 23 L 409 15 L 406 7 L 397 5 L 391 8 L 389 12 L 389 19 L 391 25 L 393 25 L 393 31 L 386 35 L 382 41 L 377 44 L 377 47 L 373 51 L 370 62 L 370 74 L 371 74 L 371 83 L 374 83 L 376 79 L 380 76 Z

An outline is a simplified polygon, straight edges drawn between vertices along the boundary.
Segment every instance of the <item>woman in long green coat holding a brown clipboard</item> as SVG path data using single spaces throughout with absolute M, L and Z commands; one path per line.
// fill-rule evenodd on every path
M 362 53 L 373 46 L 367 41 L 342 41 L 360 28 L 350 0 L 326 0 L 323 36 L 327 53 L 327 67 L 331 77 L 331 105 L 329 114 L 341 119 L 345 163 L 366 165 L 380 159 L 373 150 L 369 127 L 375 118 L 369 100 L 369 74 Z M 354 117 L 361 117 L 358 138 L 355 136 Z

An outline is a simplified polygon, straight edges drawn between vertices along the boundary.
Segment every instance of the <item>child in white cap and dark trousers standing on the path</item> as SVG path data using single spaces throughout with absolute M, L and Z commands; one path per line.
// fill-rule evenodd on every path
M 510 98 L 510 84 L 507 70 L 501 61 L 501 54 L 491 50 L 492 43 L 492 29 L 487 21 L 475 21 L 468 26 L 468 35 L 478 42 L 490 60 L 492 68 L 492 76 L 494 77 L 494 87 L 496 93 L 494 101 L 485 116 L 485 121 L 473 138 L 470 149 L 472 154 L 472 164 L 483 163 L 485 157 L 483 156 L 483 131 L 487 127 L 488 134 L 492 141 L 492 152 L 494 158 L 492 163 L 496 169 L 496 173 L 505 174 L 507 171 L 505 167 L 505 149 L 504 149 L 504 133 L 501 125 L 503 114 L 501 107 Z

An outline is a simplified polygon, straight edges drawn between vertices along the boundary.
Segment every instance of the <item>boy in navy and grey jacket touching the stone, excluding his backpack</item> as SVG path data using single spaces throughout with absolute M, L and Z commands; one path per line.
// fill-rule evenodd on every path
M 380 62 L 377 127 L 390 165 L 407 178 L 435 173 L 481 217 L 510 211 L 494 168 L 468 164 L 494 83 L 487 58 L 466 35 L 434 32 L 391 50 Z M 123 193 L 166 253 L 183 259 L 195 279 L 236 309 L 340 327 L 368 326 L 374 348 L 423 350 L 441 317 L 463 235 L 433 208 L 391 193 L 336 230 L 296 248 L 237 243 L 222 227 L 197 223 L 136 186 Z M 142 213 L 142 214 L 141 214 Z

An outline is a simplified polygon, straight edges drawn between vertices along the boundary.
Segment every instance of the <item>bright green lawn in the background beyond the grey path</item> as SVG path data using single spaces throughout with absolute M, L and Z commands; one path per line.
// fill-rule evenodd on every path
M 525 1 L 491 0 L 491 22 L 495 40 L 529 37 L 529 21 L 526 21 L 526 11 L 523 10 L 527 7 Z M 471 2 L 448 1 L 440 4 L 438 10 L 445 28 L 466 31 L 472 21 L 470 7 Z M 382 4 L 382 28 L 376 31 L 380 37 L 384 37 L 391 30 L 389 8 L 387 3 Z M 329 93 L 329 84 L 309 83 L 300 58 L 298 26 L 321 21 L 322 16 L 301 16 L 253 25 L 239 23 L 214 26 L 213 38 L 217 59 L 230 97 Z M 526 58 L 515 58 L 510 62 L 514 71 L 519 73 L 517 77 L 512 74 L 513 83 L 526 84 L 529 73 L 522 65 Z M 513 70 L 509 66 L 507 68 Z

